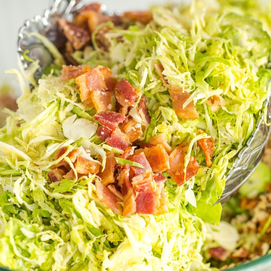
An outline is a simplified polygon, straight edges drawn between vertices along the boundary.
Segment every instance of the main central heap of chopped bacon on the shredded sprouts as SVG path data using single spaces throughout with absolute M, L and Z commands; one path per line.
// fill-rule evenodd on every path
M 48 173 L 51 182 L 71 180 L 76 175 L 80 178 L 96 174 L 96 194 L 102 203 L 114 212 L 124 216 L 133 213 L 168 212 L 164 186 L 167 177 L 163 172 L 178 185 L 182 185 L 195 176 L 200 168 L 195 157 L 191 156 L 184 170 L 188 144 L 183 141 L 172 151 L 163 134 L 150 137 L 148 143 L 138 140 L 142 138 L 151 120 L 146 107 L 146 97 L 126 79 L 118 81 L 109 68 L 63 66 L 60 78 L 62 81 L 75 79 L 81 101 L 95 107 L 97 111 L 93 119 L 100 124 L 98 137 L 107 145 L 123 150 L 123 154 L 120 156 L 113 151 L 107 152 L 102 170 L 101 157 L 94 160 L 83 147 L 69 153 L 67 148 L 62 148 L 55 160 L 67 153 L 75 171 L 67 159 L 62 160 Z M 176 89 L 173 91 L 177 93 Z M 179 107 L 183 97 L 179 94 L 173 95 L 172 100 L 173 105 L 175 103 Z M 131 110 L 137 115 L 136 120 L 130 115 Z M 193 110 L 183 110 L 189 111 L 187 118 L 194 118 L 194 115 L 191 116 L 191 112 L 194 114 Z M 199 133 L 204 131 L 200 130 Z M 203 149 L 207 167 L 211 167 L 213 139 L 200 139 L 198 145 Z M 116 158 L 124 159 L 127 163 L 121 166 L 117 164 Z M 136 163 L 142 167 L 136 167 Z

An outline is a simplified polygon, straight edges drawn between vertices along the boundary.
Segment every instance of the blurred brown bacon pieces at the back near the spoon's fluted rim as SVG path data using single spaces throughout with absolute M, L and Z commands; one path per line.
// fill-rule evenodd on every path
M 152 13 L 150 11 L 129 11 L 122 15 L 108 16 L 102 13 L 102 5 L 99 3 L 91 3 L 84 6 L 78 14 L 74 17 L 73 22 L 66 19 L 59 19 L 58 25 L 67 38 L 65 57 L 74 64 L 76 62 L 70 53 L 75 50 L 82 49 L 86 45 L 92 44 L 91 35 L 95 33 L 95 42 L 99 48 L 107 51 L 109 42 L 105 34 L 110 31 L 110 25 L 103 25 L 106 22 L 111 22 L 115 27 L 127 28 L 131 23 L 148 24 L 152 20 Z M 98 29 L 98 31 L 97 31 Z

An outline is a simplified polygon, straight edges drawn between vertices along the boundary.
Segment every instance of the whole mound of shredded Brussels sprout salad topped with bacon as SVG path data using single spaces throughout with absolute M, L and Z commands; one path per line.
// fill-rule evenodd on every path
M 38 82 L 27 52 L 30 69 L 9 71 L 22 95 L 0 129 L 0 265 L 210 270 L 205 223 L 219 224 L 225 176 L 270 95 L 268 21 L 249 12 L 90 4 L 59 19 L 62 54 L 33 34 L 55 60 Z

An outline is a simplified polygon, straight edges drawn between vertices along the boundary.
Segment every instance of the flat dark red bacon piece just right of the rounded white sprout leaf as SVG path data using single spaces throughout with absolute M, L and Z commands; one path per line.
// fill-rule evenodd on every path
M 107 110 L 96 114 L 93 119 L 98 121 L 103 126 L 111 130 L 115 130 L 120 123 L 124 122 L 125 116 L 121 113 Z

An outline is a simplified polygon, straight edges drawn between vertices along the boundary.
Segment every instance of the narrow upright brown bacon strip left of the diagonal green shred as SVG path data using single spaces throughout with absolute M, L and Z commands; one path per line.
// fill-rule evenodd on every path
M 98 176 L 102 179 L 102 184 L 107 186 L 109 183 L 114 183 L 114 169 L 116 165 L 116 159 L 113 151 L 106 153 L 106 163 L 104 170 L 102 171 L 102 167 L 98 173 Z

